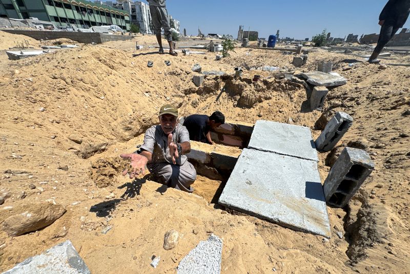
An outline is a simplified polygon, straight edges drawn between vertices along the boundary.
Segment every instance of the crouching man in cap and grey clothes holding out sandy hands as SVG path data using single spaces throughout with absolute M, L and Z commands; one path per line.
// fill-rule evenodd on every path
M 186 153 L 191 151 L 189 132 L 178 124 L 178 109 L 173 105 L 162 106 L 159 110 L 159 125 L 145 132 L 144 145 L 140 152 L 121 154 L 131 159 L 130 179 L 145 174 L 146 166 L 160 183 L 186 192 L 193 192 L 191 185 L 196 180 L 196 170 L 188 162 Z

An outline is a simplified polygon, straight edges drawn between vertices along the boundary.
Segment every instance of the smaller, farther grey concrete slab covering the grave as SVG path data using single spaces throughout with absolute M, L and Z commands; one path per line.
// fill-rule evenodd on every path
M 318 161 L 315 142 L 308 127 L 256 121 L 248 148 Z

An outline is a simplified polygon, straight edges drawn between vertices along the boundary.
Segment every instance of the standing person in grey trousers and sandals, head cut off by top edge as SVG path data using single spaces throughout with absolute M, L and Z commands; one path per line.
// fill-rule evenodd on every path
M 165 37 L 170 45 L 170 54 L 177 56 L 178 53 L 174 51 L 172 46 L 172 33 L 170 27 L 170 19 L 168 16 L 165 0 L 147 0 L 150 4 L 150 13 L 152 18 L 152 25 L 154 27 L 154 33 L 157 36 L 159 53 L 163 54 L 162 40 L 161 40 L 161 27 L 163 28 Z

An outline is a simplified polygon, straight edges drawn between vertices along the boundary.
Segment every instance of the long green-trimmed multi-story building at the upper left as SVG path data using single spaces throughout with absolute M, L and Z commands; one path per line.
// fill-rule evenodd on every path
M 117 25 L 130 30 L 130 13 L 85 0 L 0 0 L 0 17 L 52 22 L 55 26 L 90 28 Z

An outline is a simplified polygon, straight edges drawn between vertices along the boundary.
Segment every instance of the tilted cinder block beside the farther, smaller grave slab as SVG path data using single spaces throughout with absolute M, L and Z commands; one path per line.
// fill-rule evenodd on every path
M 315 145 L 317 150 L 332 150 L 352 125 L 352 116 L 344 112 L 337 112 L 329 123 L 327 123 L 318 139 L 316 139 Z

